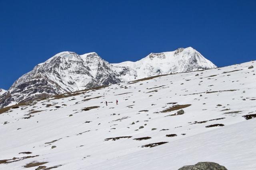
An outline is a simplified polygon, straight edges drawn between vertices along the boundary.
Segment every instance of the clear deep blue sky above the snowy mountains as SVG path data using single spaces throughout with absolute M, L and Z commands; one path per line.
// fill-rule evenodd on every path
M 256 59 L 256 0 L 0 0 L 0 88 L 60 51 L 110 63 L 194 47 L 218 67 Z

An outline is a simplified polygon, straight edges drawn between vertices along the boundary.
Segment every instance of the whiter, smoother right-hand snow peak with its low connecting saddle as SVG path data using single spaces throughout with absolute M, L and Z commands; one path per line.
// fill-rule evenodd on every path
M 216 68 L 216 65 L 192 47 L 179 48 L 170 52 L 150 53 L 136 62 L 125 61 L 112 65 L 129 67 L 136 71 L 138 78 Z

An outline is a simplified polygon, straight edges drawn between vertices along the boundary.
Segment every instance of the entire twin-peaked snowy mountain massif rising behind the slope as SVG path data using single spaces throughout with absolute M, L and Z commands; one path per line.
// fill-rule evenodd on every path
M 78 55 L 64 51 L 36 65 L 32 71 L 16 80 L 8 91 L 10 99 L 1 99 L 0 108 L 14 101 L 24 103 L 154 75 L 212 68 L 216 68 L 216 65 L 192 47 L 151 53 L 139 61 L 119 64 L 110 64 L 94 52 Z

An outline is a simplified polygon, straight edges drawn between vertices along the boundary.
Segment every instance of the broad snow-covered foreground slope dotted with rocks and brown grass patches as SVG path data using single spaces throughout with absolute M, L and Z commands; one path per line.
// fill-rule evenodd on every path
M 255 68 L 156 76 L 2 109 L 0 169 L 176 170 L 213 161 L 254 170 L 256 119 L 243 116 L 256 114 Z M 151 138 L 134 140 L 142 137 Z M 142 147 L 157 142 L 167 143 Z

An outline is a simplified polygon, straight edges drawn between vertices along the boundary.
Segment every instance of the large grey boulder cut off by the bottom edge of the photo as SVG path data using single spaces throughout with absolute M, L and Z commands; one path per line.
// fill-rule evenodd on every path
M 183 166 L 178 170 L 227 170 L 227 168 L 214 162 L 198 162 L 195 165 Z

